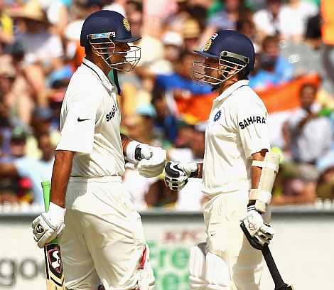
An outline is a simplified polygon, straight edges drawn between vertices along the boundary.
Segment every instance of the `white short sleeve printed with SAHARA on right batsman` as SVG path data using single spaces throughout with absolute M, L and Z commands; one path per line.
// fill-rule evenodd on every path
M 245 102 L 237 107 L 239 137 L 247 159 L 262 149 L 270 150 L 267 118 L 266 109 L 257 102 Z

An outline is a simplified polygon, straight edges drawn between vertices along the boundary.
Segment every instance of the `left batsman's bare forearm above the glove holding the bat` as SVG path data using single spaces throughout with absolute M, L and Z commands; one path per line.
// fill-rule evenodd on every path
M 58 150 L 55 151 L 55 163 L 51 179 L 50 201 L 65 208 L 66 189 L 72 170 L 74 152 Z

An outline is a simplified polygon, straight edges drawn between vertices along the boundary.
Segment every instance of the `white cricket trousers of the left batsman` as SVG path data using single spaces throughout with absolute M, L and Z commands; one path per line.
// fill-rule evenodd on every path
M 114 290 L 136 288 L 145 247 L 141 217 L 121 177 L 70 178 L 60 237 L 68 289 L 95 290 L 102 279 Z

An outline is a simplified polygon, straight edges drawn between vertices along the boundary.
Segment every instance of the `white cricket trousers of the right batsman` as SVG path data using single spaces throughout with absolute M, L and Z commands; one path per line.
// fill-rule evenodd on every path
M 252 248 L 240 228 L 247 214 L 247 190 L 216 195 L 204 207 L 208 252 L 221 257 L 230 269 L 230 289 L 259 290 L 262 252 Z

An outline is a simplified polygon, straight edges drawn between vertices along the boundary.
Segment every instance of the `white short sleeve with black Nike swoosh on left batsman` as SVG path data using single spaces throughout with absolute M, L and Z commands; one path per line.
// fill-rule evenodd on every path
M 98 102 L 93 98 L 88 100 L 77 97 L 68 103 L 68 112 L 56 150 L 92 154 L 97 106 Z

